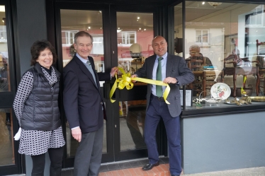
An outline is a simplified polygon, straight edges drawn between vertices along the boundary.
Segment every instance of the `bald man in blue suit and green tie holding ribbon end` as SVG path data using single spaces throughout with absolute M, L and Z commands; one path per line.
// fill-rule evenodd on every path
M 155 133 L 160 118 L 167 130 L 169 143 L 169 170 L 172 176 L 181 175 L 181 135 L 180 119 L 181 95 L 179 87 L 191 83 L 194 76 L 182 57 L 167 53 L 167 41 L 162 36 L 152 40 L 154 55 L 145 59 L 145 64 L 135 72 L 132 78 L 149 78 L 169 83 L 171 88 L 167 97 L 169 105 L 164 101 L 165 86 L 148 84 L 147 112 L 145 117 L 145 143 L 150 162 L 142 170 L 151 170 L 159 165 L 159 154 Z

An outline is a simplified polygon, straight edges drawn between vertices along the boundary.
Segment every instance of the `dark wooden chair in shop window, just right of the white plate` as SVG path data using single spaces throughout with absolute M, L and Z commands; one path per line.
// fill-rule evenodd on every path
M 257 63 L 256 66 L 252 66 L 252 63 Z M 227 58 L 224 59 L 224 68 L 223 68 L 223 76 L 232 75 L 233 76 L 233 87 L 234 92 L 233 96 L 236 97 L 236 83 L 237 83 L 237 75 L 252 75 L 255 74 L 257 77 L 256 81 L 256 95 L 258 95 L 258 83 L 259 83 L 259 61 L 249 61 L 246 58 L 240 58 L 237 54 L 230 54 Z M 223 78 L 222 78 L 223 80 Z M 243 85 L 245 88 L 245 85 Z

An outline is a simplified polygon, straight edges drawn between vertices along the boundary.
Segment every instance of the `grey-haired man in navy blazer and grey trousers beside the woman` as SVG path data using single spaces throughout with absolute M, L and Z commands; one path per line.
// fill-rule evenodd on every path
M 93 37 L 84 31 L 74 35 L 77 54 L 64 67 L 64 111 L 72 136 L 79 141 L 74 159 L 74 176 L 97 176 L 101 165 L 103 117 L 106 117 L 99 81 L 111 80 L 111 74 L 96 73 L 94 60 L 89 57 Z

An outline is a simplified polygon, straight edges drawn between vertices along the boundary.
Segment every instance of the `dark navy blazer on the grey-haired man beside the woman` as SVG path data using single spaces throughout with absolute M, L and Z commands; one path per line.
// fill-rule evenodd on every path
M 89 57 L 96 83 L 89 69 L 74 55 L 64 67 L 64 112 L 70 129 L 80 127 L 82 133 L 96 131 L 103 126 L 106 115 L 99 81 L 111 80 L 109 73 L 96 73 L 94 60 Z M 103 108 L 103 110 L 102 110 Z

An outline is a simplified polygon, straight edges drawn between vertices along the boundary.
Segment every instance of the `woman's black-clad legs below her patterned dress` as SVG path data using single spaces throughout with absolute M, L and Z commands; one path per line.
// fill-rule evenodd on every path
M 63 147 L 49 148 L 50 176 L 60 176 L 62 170 Z M 43 176 L 45 168 L 45 153 L 38 156 L 31 156 L 33 161 L 32 176 Z

